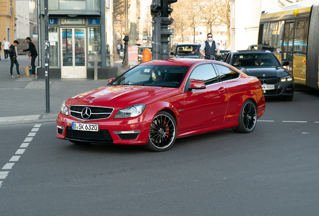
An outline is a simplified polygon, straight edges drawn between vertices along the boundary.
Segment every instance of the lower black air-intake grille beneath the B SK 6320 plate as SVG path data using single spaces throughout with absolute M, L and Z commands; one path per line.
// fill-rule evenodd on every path
M 108 130 L 100 129 L 99 131 L 82 131 L 73 130 L 72 127 L 67 127 L 66 138 L 74 138 L 86 141 L 113 141 Z

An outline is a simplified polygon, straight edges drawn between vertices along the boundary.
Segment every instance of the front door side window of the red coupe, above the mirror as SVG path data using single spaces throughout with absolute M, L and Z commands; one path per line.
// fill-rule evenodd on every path
M 212 64 L 197 66 L 190 75 L 190 81 L 203 81 L 206 85 L 217 83 L 218 77 Z

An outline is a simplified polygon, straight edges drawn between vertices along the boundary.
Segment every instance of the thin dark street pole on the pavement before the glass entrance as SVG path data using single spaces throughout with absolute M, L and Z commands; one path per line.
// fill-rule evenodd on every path
M 49 10 L 48 0 L 44 0 L 45 28 L 45 77 L 46 77 L 46 113 L 50 112 L 50 81 L 49 81 Z M 41 38 L 39 38 L 41 39 Z

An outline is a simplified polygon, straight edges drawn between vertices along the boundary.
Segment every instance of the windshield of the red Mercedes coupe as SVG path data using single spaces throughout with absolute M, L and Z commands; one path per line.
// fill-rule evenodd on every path
M 149 85 L 161 87 L 179 87 L 189 66 L 138 65 L 118 78 L 110 85 Z

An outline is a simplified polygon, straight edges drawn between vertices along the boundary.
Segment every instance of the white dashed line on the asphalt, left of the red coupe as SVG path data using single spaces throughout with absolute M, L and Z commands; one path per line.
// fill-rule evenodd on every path
M 30 136 L 35 136 L 37 134 L 37 131 L 39 131 L 39 127 L 41 124 L 36 124 L 32 128 L 31 132 L 28 134 L 28 136 L 25 138 L 23 143 L 20 145 L 20 148 L 16 151 L 15 154 L 23 154 L 26 151 L 26 148 L 29 146 L 30 142 L 32 141 L 33 137 Z M 20 159 L 21 155 L 13 155 L 9 161 L 18 161 Z M 2 169 L 12 169 L 14 162 L 9 162 L 4 165 Z M 10 171 L 0 171 L 0 179 L 5 179 Z M 0 181 L 0 187 L 3 184 L 3 180 Z

